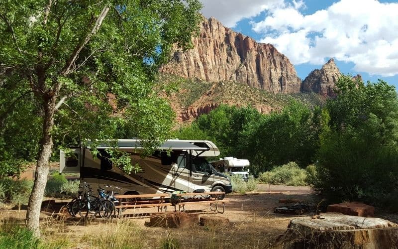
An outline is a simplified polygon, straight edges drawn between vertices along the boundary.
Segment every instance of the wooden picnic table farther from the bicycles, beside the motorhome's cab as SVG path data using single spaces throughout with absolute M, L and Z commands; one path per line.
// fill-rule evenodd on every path
M 176 199 L 171 199 L 170 202 L 174 206 L 174 210 L 185 211 L 185 206 L 195 204 L 210 204 L 210 210 L 213 212 L 224 213 L 225 203 L 228 200 L 218 200 L 217 195 L 224 195 L 225 192 L 213 191 L 213 192 L 202 192 L 202 193 L 180 193 L 174 194 L 177 196 Z M 173 197 L 172 197 L 173 198 Z

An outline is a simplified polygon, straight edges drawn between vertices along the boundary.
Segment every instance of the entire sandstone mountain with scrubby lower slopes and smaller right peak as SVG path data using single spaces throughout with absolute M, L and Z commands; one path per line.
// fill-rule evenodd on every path
M 177 78 L 183 82 L 177 94 L 167 97 L 178 122 L 191 121 L 220 104 L 251 105 L 270 113 L 292 98 L 312 105 L 335 96 L 340 71 L 333 59 L 301 82 L 289 59 L 273 45 L 257 43 L 214 17 L 203 18 L 192 41 L 193 49 L 175 49 L 171 61 L 160 68 L 160 85 Z

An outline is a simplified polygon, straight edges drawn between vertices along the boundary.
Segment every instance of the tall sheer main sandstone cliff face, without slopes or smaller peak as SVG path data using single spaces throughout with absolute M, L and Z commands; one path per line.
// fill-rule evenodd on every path
M 176 50 L 160 72 L 208 82 L 233 80 L 272 93 L 297 93 L 301 80 L 289 59 L 271 44 L 224 27 L 214 17 L 204 19 L 194 48 Z

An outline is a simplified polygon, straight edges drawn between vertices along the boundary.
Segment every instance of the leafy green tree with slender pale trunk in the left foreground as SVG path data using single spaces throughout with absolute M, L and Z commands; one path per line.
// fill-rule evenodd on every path
M 118 127 L 148 146 L 166 138 L 172 111 L 152 82 L 173 44 L 191 45 L 199 9 L 198 0 L 1 1 L 0 91 L 15 95 L 0 121 L 26 112 L 40 130 L 26 215 L 36 236 L 54 142 L 114 138 Z

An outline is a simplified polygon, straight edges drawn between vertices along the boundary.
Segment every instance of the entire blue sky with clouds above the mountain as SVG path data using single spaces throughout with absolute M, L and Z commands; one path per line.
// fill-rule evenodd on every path
M 398 1 L 201 0 L 202 14 L 273 44 L 302 80 L 334 58 L 343 74 L 398 89 Z

